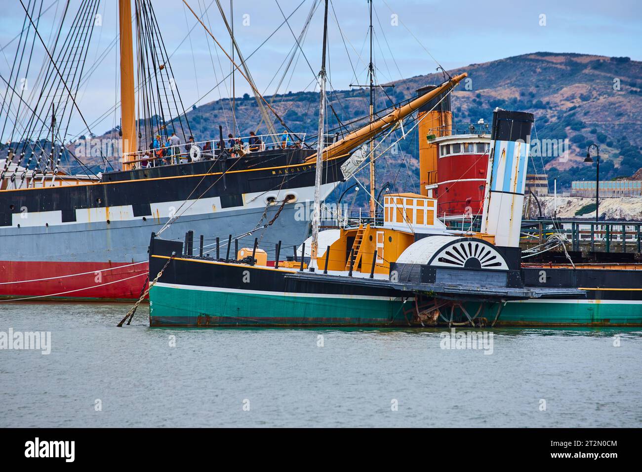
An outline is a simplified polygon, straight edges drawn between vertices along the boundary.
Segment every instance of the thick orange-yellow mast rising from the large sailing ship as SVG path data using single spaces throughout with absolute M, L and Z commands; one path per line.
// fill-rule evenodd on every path
M 131 0 L 118 0 L 121 58 L 121 132 L 123 133 L 123 170 L 130 170 L 136 151 L 136 117 L 134 98 L 134 46 L 132 41 Z

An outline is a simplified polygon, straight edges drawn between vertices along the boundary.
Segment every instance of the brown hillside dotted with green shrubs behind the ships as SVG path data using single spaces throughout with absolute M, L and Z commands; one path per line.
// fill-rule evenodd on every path
M 335 66 L 336 67 L 336 66 Z M 453 93 L 456 123 L 490 120 L 492 109 L 501 107 L 535 114 L 534 138 L 568 139 L 564 156 L 535 155 L 529 172 L 546 168 L 549 180 L 558 179 L 560 189 L 571 180 L 594 179 L 594 164 L 584 164 L 591 142 L 600 145 L 601 179 L 629 177 L 642 168 L 642 62 L 629 58 L 582 54 L 533 53 L 509 57 L 448 71 L 469 74 L 470 80 Z M 441 73 L 415 76 L 386 88 L 377 108 L 410 98 L 428 83 L 440 83 Z M 367 114 L 367 92 L 362 89 L 331 91 L 330 127 L 349 123 Z M 296 132 L 316 134 L 318 94 L 288 92 L 268 98 Z M 196 140 L 218 136 L 218 125 L 231 123 L 229 100 L 217 100 L 190 110 L 187 118 Z M 242 135 L 256 128 L 259 113 L 254 97 L 236 99 L 236 119 Z M 354 124 L 354 123 L 352 123 Z M 265 126 L 259 131 L 265 132 Z M 277 127 L 281 132 L 281 127 Z M 397 182 L 399 188 L 417 189 L 417 134 L 408 135 L 394 155 L 377 161 L 379 181 Z M 537 154 L 537 152 L 535 152 Z M 533 168 L 534 167 L 534 168 Z

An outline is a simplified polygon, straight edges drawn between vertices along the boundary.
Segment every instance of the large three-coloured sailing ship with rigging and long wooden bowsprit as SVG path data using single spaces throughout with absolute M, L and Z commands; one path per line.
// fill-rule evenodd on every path
M 336 137 L 333 151 L 324 153 L 322 175 L 315 177 L 315 141 L 324 136 L 306 138 L 288 128 L 258 91 L 229 25 L 236 60 L 187 5 L 249 83 L 257 120 L 268 128 L 245 140 L 230 142 L 221 128 L 206 141 L 190 140 L 152 2 L 136 0 L 132 12 L 130 0 L 119 0 L 121 150 L 112 155 L 99 150 L 105 168 L 94 173 L 69 151 L 64 126 L 72 114 L 87 125 L 76 98 L 85 83 L 87 48 L 82 46 L 91 40 L 99 2 L 83 1 L 75 13 L 65 4 L 56 35 L 49 39 L 39 31 L 41 3 L 22 4 L 15 67 L 3 77 L 8 100 L 3 110 L 21 127 L 4 144 L 6 157 L 0 161 L 0 297 L 136 298 L 146 284 L 152 232 L 182 240 L 188 230 L 198 231 L 212 235 L 206 241 L 210 247 L 222 232 L 239 240 L 260 238 L 268 228 L 279 240 L 305 237 L 311 222 L 297 210 L 314 200 L 315 191 L 317 199 L 327 197 L 363 162 L 361 145 L 394 125 L 369 124 Z M 29 47 L 40 48 L 45 57 L 37 91 L 30 96 L 18 83 L 33 67 L 26 64 Z M 283 134 L 277 134 L 275 123 Z M 175 144 L 174 134 L 184 141 Z M 65 156 L 78 161 L 84 173 L 65 174 Z

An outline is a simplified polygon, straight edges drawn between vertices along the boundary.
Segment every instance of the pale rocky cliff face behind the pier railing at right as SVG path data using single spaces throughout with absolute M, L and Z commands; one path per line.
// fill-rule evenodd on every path
M 551 217 L 555 212 L 555 197 L 553 195 L 542 195 L 537 197 L 542 206 L 542 215 Z M 528 200 L 528 198 L 526 198 Z M 575 212 L 585 205 L 595 203 L 595 198 L 586 197 L 560 197 L 557 196 L 557 217 L 558 218 L 595 218 L 595 211 L 586 214 L 576 215 Z M 525 204 L 528 205 L 528 202 Z M 530 211 L 525 218 L 537 218 L 538 209 L 534 199 L 530 202 Z M 607 197 L 600 198 L 600 216 L 607 220 L 637 220 L 642 221 L 642 197 Z

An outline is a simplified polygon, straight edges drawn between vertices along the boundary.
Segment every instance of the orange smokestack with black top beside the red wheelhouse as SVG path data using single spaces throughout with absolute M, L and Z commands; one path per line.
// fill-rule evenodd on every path
M 417 90 L 417 95 L 422 96 L 436 89 L 438 85 L 426 85 Z M 428 136 L 441 137 L 452 134 L 453 113 L 450 109 L 450 95 L 444 100 L 440 94 L 419 108 L 419 189 L 421 195 L 434 197 L 432 189 L 426 185 L 437 184 L 437 153 L 439 146 L 428 142 Z M 440 101 L 441 100 L 441 101 Z M 432 139 L 432 138 L 431 138 Z

